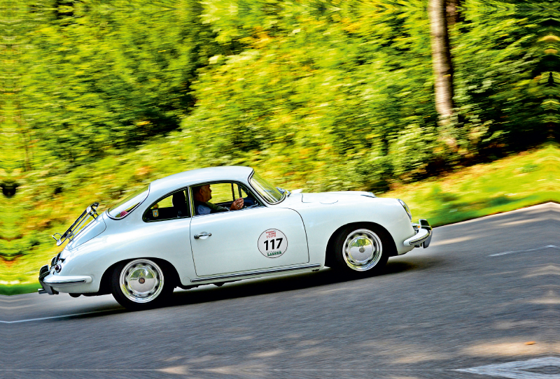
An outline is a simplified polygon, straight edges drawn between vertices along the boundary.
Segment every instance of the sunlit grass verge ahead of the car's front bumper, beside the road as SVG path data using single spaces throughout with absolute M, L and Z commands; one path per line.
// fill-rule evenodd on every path
M 400 198 L 414 219 L 433 226 L 554 201 L 560 203 L 560 149 L 522 152 L 489 164 L 462 169 L 442 178 L 404 185 L 383 197 Z

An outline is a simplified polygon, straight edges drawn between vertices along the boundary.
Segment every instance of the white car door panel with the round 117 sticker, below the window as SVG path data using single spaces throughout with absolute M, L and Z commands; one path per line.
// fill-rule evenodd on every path
M 302 218 L 286 208 L 260 206 L 195 216 L 190 243 L 197 276 L 309 262 Z

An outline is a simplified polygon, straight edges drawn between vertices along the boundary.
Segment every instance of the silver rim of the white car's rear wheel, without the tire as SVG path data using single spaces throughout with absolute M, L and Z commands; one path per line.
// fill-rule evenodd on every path
M 120 271 L 120 289 L 134 303 L 148 303 L 162 292 L 162 269 L 149 259 L 136 259 Z

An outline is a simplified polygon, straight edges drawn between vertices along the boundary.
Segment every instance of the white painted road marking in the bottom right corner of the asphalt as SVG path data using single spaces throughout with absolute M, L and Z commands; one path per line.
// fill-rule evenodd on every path
M 552 369 L 552 373 L 538 373 L 526 371 L 531 369 Z M 459 369 L 463 373 L 477 373 L 479 375 L 498 376 L 509 379 L 560 379 L 560 358 L 545 357 L 529 359 L 528 361 L 489 364 L 488 366 Z M 555 372 L 554 372 L 555 371 Z

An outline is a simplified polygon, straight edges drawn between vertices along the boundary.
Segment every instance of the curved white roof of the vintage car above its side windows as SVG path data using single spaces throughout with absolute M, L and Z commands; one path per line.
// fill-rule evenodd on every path
M 155 192 L 167 192 L 179 187 L 221 180 L 247 183 L 251 173 L 253 173 L 253 169 L 246 166 L 218 166 L 183 171 L 182 173 L 176 173 L 166 176 L 165 178 L 154 180 L 150 184 L 150 192 L 151 194 Z

